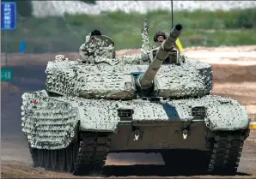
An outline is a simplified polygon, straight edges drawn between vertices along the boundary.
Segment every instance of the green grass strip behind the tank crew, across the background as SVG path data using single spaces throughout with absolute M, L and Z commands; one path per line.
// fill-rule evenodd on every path
M 153 39 L 158 30 L 169 32 L 171 14 L 168 11 L 151 11 L 125 14 L 64 15 L 47 18 L 18 18 L 17 29 L 7 32 L 8 51 L 18 52 L 22 39 L 27 40 L 27 52 L 78 51 L 85 36 L 94 28 L 114 39 L 117 49 L 140 48 L 143 19 L 149 19 L 149 33 Z M 256 9 L 224 11 L 174 12 L 174 23 L 181 23 L 184 31 L 181 44 L 188 46 L 255 45 Z M 152 40 L 153 41 L 153 40 Z M 1 34 L 4 51 L 4 33 Z

